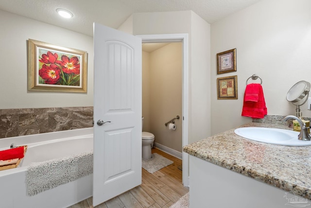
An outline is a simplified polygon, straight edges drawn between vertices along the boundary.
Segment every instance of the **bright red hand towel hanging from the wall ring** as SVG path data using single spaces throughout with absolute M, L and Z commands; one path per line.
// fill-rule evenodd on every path
M 263 118 L 267 114 L 262 86 L 257 83 L 246 85 L 242 116 Z

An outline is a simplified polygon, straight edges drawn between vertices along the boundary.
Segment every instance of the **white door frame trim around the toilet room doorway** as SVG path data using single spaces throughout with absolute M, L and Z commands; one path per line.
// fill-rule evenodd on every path
M 182 146 L 188 145 L 188 34 L 137 35 L 142 43 L 182 43 Z M 182 152 L 183 185 L 189 187 L 189 155 Z

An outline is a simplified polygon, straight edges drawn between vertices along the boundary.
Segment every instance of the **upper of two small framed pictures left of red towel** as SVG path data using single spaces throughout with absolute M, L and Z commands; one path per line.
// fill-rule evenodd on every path
M 237 71 L 236 49 L 217 54 L 217 74 Z

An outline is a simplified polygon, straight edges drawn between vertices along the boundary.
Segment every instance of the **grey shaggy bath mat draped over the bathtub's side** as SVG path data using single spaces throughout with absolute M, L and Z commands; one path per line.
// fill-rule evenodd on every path
M 69 183 L 93 172 L 93 151 L 44 162 L 31 163 L 27 168 L 27 193 L 42 191 Z

